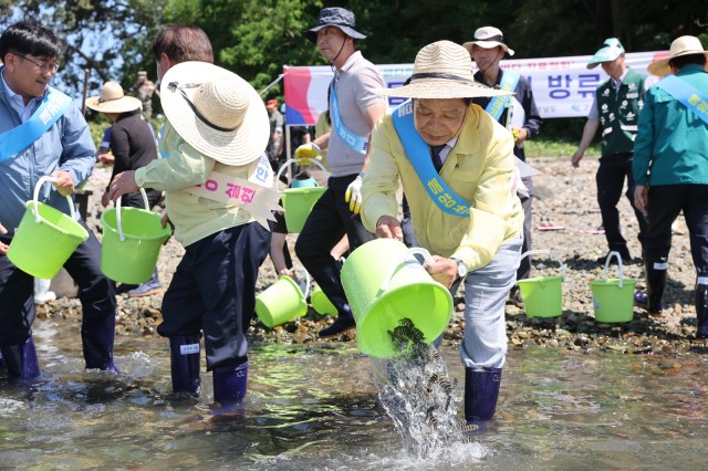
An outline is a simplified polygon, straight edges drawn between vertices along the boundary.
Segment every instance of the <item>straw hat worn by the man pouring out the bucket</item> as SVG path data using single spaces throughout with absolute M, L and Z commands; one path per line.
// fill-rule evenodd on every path
M 376 93 L 403 98 L 442 100 L 512 94 L 475 82 L 469 53 L 450 41 L 434 42 L 418 51 L 407 85 L 378 88 Z

